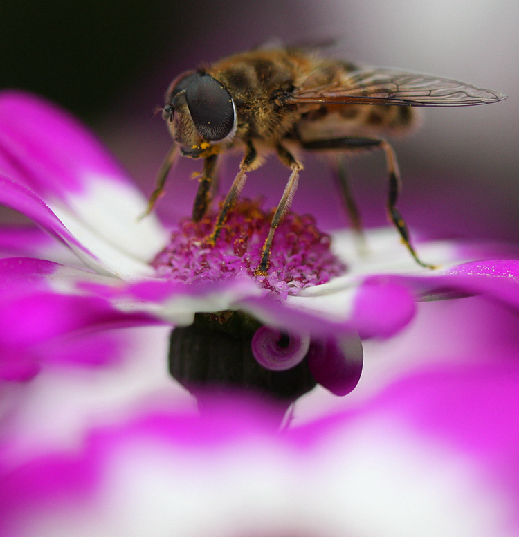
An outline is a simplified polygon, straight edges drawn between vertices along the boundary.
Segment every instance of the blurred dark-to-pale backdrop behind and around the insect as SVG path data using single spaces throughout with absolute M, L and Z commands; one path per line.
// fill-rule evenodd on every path
M 160 114 L 176 75 L 273 38 L 334 39 L 326 53 L 497 89 L 508 100 L 425 109 L 424 125 L 394 140 L 404 189 L 399 207 L 429 237 L 519 238 L 519 3 L 516 0 L 31 0 L 0 6 L 0 87 L 46 96 L 79 116 L 149 194 L 171 140 Z M 30 121 L 30 118 L 27 118 Z M 224 184 L 238 157 L 223 169 Z M 189 215 L 201 163 L 181 159 L 159 214 Z M 323 228 L 346 223 L 331 173 L 308 156 L 293 208 Z M 353 158 L 365 223 L 385 224 L 385 164 Z M 280 198 L 287 171 L 275 158 L 244 194 Z

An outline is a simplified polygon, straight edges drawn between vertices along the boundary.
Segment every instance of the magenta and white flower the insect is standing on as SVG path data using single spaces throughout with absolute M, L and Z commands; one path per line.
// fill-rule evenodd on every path
M 309 265 L 309 255 L 304 262 L 293 255 L 291 261 L 297 259 L 300 264 L 294 266 L 299 275 L 287 272 L 288 264 L 258 279 L 250 274 L 231 278 L 210 273 L 210 281 L 202 277 L 203 282 L 194 284 L 179 277 L 178 271 L 167 274 L 164 259 L 169 255 L 167 264 L 172 266 L 178 248 L 173 256 L 171 248 L 176 243 L 168 246 L 167 230 L 153 216 L 138 218 L 145 210 L 145 200 L 125 173 L 68 114 L 25 93 L 6 91 L 0 97 L 0 171 L 0 201 L 33 219 L 67 248 L 58 253 L 55 245 L 49 247 L 34 230 L 24 234 L 3 230 L 6 249 L 0 291 L 6 329 L 0 373 L 4 379 L 26 380 L 37 373 L 47 356 L 52 361 L 57 354 L 62 360 L 102 362 L 107 359 L 102 352 L 85 347 L 88 356 L 78 356 L 63 349 L 66 345 L 77 349 L 81 338 L 93 332 L 109 336 L 114 327 L 143 325 L 192 327 L 188 332 L 179 328 L 172 336 L 178 355 L 172 360 L 179 358 L 184 370 L 185 364 L 194 362 L 190 341 L 205 338 L 209 343 L 216 340 L 217 333 L 238 323 L 242 347 L 251 349 L 262 372 L 266 368 L 267 376 L 262 373 L 261 379 L 254 380 L 261 388 L 272 382 L 286 385 L 287 372 L 278 370 L 292 372 L 300 367 L 302 386 L 311 387 L 318 381 L 331 392 L 346 394 L 361 374 L 359 336 L 363 340 L 394 336 L 415 316 L 417 298 L 485 293 L 493 300 L 518 305 L 517 262 L 456 266 L 456 260 L 466 258 L 462 246 L 432 242 L 421 245 L 421 255 L 443 261 L 446 268 L 422 271 L 408 259 L 404 248 L 394 245 L 396 234 L 389 239 L 386 232 L 370 233 L 374 254 L 365 261 L 350 246 L 351 237 L 346 234 L 334 237 L 340 257 L 335 260 L 327 251 L 326 236 L 313 230 L 318 239 L 312 244 L 320 248 L 313 262 L 321 265 Z M 248 215 L 250 224 L 249 213 L 259 207 L 243 203 L 242 217 Z M 266 217 L 261 219 L 266 222 Z M 290 228 L 298 219 L 289 216 L 285 224 Z M 211 221 L 201 224 L 207 228 Z M 235 226 L 243 228 L 239 221 Z M 311 228 L 309 221 L 303 221 L 304 227 Z M 183 233 L 189 229 L 192 233 L 192 227 L 185 224 Z M 23 235 L 24 244 L 14 247 L 10 233 Z M 222 232 L 224 246 L 228 233 Z M 299 244 L 293 240 L 293 230 L 291 233 L 292 244 Z M 302 237 L 302 232 L 296 235 Z M 278 233 L 284 240 L 288 236 L 281 230 Z M 234 248 L 249 255 L 250 264 L 253 241 L 249 239 L 244 247 L 239 243 L 243 237 L 237 240 Z M 185 254 L 196 246 L 188 242 L 182 247 Z M 203 250 L 203 243 L 199 248 Z M 479 255 L 493 253 L 492 248 L 477 248 Z M 17 257 L 12 257 L 13 251 Z M 213 251 L 219 252 L 218 247 Z M 187 262 L 185 255 L 181 259 Z M 347 271 L 338 275 L 344 266 Z M 305 268 L 310 274 L 306 280 L 302 277 Z M 314 270 L 318 277 L 311 275 Z M 215 330 L 213 313 L 223 329 Z M 199 317 L 193 323 L 195 315 Z M 193 335 L 197 327 L 210 335 Z M 282 334 L 289 334 L 291 345 L 283 342 Z M 21 352 L 12 352 L 14 347 Z M 222 348 L 217 355 L 228 354 L 228 348 L 226 353 Z M 203 349 L 204 360 L 209 356 L 206 351 Z M 302 361 L 304 357 L 306 361 Z M 171 365 L 172 371 L 179 367 Z M 206 376 L 206 370 L 197 370 L 193 376 L 192 369 L 177 377 L 188 387 Z M 253 369 L 256 379 L 258 368 Z M 226 381 L 240 383 L 234 377 Z

